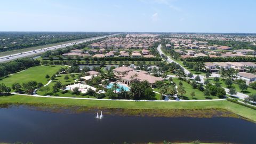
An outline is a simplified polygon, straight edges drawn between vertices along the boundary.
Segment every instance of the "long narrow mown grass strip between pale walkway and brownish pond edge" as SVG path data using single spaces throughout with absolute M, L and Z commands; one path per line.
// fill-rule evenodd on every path
M 235 114 L 256 122 L 256 110 L 227 100 L 201 102 L 142 102 L 142 101 L 101 101 L 57 98 L 36 98 L 23 95 L 0 97 L 0 103 L 52 104 L 87 107 L 127 108 L 127 109 L 227 109 Z

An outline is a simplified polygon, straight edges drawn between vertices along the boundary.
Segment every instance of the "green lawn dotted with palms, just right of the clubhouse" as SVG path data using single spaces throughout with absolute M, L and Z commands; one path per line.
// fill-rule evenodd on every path
M 179 82 L 181 80 L 177 78 L 173 78 L 173 82 L 176 85 L 179 85 Z M 185 100 L 205 100 L 205 99 L 218 99 L 218 97 L 211 96 L 210 98 L 205 98 L 204 92 L 199 91 L 198 89 L 193 89 L 193 86 L 191 86 L 189 83 L 185 81 L 181 81 L 183 84 L 183 87 L 185 87 L 186 93 L 183 94 L 183 99 Z M 191 97 L 191 92 L 195 92 L 195 97 Z

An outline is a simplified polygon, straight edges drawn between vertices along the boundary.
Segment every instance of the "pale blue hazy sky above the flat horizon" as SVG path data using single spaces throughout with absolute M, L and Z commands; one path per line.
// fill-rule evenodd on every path
M 0 31 L 256 33 L 255 0 L 0 0 Z

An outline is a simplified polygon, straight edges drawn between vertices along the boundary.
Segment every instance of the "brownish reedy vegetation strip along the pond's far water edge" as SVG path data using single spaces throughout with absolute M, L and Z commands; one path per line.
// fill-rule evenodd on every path
M 25 107 L 31 110 L 46 111 L 51 113 L 97 113 L 103 111 L 107 115 L 118 116 L 140 116 L 140 117 L 191 117 L 191 118 L 213 118 L 213 117 L 232 117 L 253 122 L 251 119 L 239 116 L 229 110 L 222 108 L 205 109 L 127 109 L 127 108 L 105 108 L 105 107 L 86 107 L 68 105 L 50 105 L 36 103 L 4 103 L 0 108 Z

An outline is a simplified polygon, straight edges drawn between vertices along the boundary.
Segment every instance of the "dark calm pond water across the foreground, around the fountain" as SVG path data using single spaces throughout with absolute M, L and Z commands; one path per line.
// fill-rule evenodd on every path
M 104 115 L 99 120 L 95 113 L 51 113 L 24 106 L 1 108 L 0 128 L 0 142 L 256 142 L 256 124 L 243 119 Z

